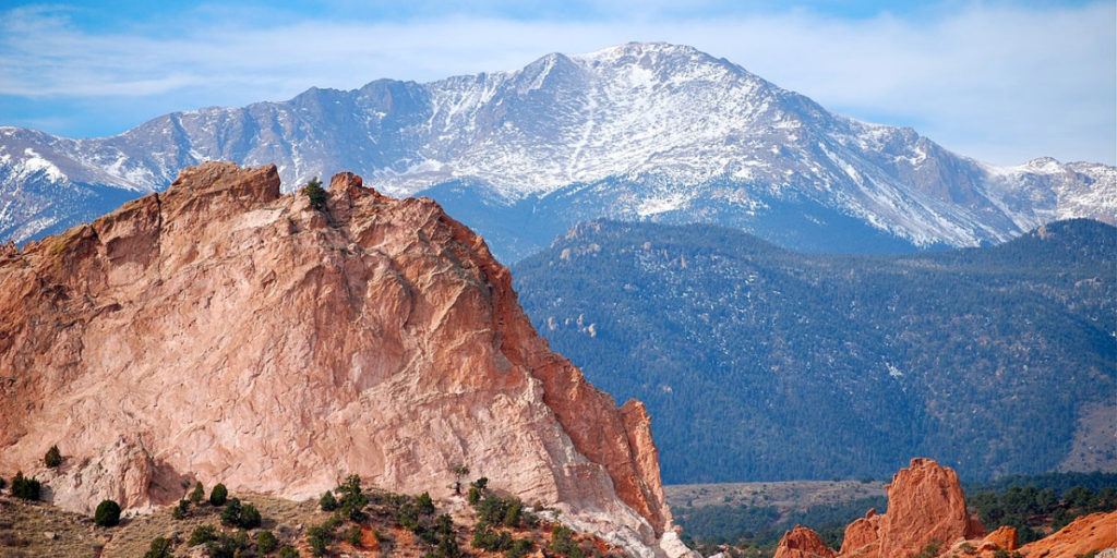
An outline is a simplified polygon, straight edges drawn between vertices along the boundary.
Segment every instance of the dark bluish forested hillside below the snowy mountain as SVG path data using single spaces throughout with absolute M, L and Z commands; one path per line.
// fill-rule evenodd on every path
M 1117 412 L 1115 240 L 1077 220 L 992 248 L 819 256 L 592 222 L 513 277 L 555 350 L 647 403 L 667 483 L 880 477 L 915 455 L 976 480 L 1117 464 L 1111 435 L 1086 435 Z

